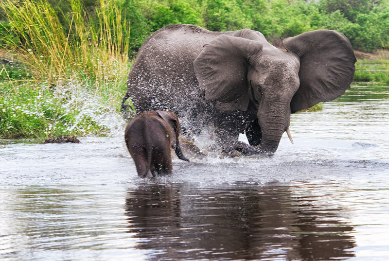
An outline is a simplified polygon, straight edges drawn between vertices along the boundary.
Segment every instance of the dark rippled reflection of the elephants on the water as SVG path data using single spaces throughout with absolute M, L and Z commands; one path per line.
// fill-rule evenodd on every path
M 231 190 L 232 189 L 232 190 Z M 289 186 L 140 186 L 126 197 L 130 231 L 149 260 L 339 260 L 353 257 L 347 209 L 315 206 Z M 188 255 L 190 254 L 190 255 Z

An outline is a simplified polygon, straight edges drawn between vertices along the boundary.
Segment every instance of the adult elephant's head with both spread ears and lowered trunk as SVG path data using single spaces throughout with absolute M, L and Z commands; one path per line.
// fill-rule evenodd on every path
M 342 95 L 355 70 L 351 44 L 336 31 L 304 33 L 283 45 L 286 52 L 243 29 L 206 44 L 194 62 L 206 99 L 219 109 L 256 108 L 258 123 L 246 134 L 250 145 L 269 153 L 277 150 L 291 113 Z

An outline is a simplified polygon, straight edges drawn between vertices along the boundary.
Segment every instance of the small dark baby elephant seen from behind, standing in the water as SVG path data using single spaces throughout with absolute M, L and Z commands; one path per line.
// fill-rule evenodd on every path
M 128 123 L 124 139 L 134 159 L 138 176 L 171 174 L 173 170 L 170 147 L 178 158 L 189 161 L 178 143 L 180 124 L 177 115 L 170 111 L 143 111 Z

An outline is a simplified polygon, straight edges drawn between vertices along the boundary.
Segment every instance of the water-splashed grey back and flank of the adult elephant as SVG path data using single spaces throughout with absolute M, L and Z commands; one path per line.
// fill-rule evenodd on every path
M 203 103 L 193 62 L 203 45 L 223 33 L 195 25 L 165 26 L 142 44 L 128 77 L 137 113 L 170 110 L 179 116 Z

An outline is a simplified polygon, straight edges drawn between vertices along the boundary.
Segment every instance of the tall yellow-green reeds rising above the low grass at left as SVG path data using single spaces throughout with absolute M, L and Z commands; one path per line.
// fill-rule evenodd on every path
M 19 42 L 6 41 L 3 49 L 16 53 L 36 81 L 55 84 L 69 76 L 88 78 L 95 87 L 117 80 L 114 71 L 128 70 L 129 22 L 114 0 L 100 0 L 92 19 L 80 0 L 70 0 L 65 31 L 47 0 L 3 0 L 1 8 Z M 119 73 L 119 71 L 117 73 Z

